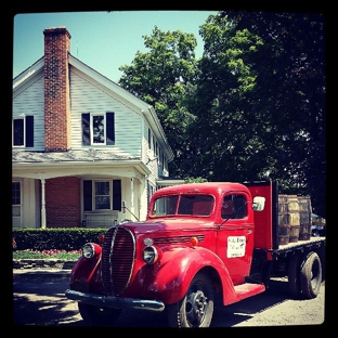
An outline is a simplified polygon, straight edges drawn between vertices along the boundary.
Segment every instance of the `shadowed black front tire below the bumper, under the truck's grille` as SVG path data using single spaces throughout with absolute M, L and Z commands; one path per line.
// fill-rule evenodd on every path
M 108 326 L 119 317 L 122 309 L 99 308 L 78 302 L 79 312 L 83 321 L 91 326 Z

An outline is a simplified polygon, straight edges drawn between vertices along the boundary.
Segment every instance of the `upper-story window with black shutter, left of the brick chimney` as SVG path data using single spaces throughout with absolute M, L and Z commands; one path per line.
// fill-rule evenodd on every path
M 13 119 L 12 144 L 14 147 L 34 146 L 34 116 Z

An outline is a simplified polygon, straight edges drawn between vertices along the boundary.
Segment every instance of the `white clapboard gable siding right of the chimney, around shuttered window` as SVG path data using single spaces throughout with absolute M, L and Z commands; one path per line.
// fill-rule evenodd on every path
M 141 157 L 142 114 L 138 114 L 112 95 L 79 76 L 70 73 L 72 98 L 72 148 L 83 148 L 81 144 L 82 113 L 115 113 L 115 145 L 106 146 L 117 155 Z

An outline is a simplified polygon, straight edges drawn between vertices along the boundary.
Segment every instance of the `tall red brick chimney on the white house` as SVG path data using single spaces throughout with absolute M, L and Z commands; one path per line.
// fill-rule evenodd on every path
M 70 148 L 69 67 L 70 34 L 65 27 L 44 35 L 44 150 Z

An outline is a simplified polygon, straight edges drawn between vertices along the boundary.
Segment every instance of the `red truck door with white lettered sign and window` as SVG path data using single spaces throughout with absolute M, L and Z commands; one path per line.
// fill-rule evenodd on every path
M 245 192 L 222 197 L 216 251 L 224 261 L 233 283 L 242 284 L 249 275 L 253 250 L 253 218 Z

